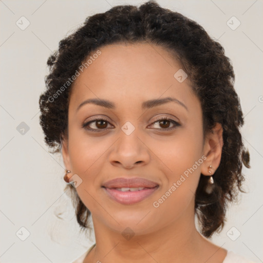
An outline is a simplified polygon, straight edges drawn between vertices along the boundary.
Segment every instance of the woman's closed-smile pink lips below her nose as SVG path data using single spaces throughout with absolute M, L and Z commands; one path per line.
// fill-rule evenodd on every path
M 103 188 L 111 199 L 121 204 L 134 204 L 147 198 L 158 189 L 158 183 L 144 178 L 117 178 L 107 181 Z M 138 191 L 121 191 L 121 188 L 144 187 Z

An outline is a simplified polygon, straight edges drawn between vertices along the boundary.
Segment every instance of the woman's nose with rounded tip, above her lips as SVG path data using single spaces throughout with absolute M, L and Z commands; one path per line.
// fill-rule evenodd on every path
M 150 161 L 149 148 L 134 131 L 130 135 L 121 132 L 119 139 L 112 145 L 109 161 L 114 166 L 131 169 L 144 166 Z

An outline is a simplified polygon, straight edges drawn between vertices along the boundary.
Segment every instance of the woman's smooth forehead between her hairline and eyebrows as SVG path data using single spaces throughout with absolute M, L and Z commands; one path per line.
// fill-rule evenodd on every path
M 169 50 L 148 44 L 113 44 L 89 55 L 89 64 L 74 81 L 70 98 L 77 107 L 84 99 L 124 97 L 137 101 L 176 96 L 186 102 L 193 96 L 188 79 L 174 77 L 180 63 Z M 86 60 L 87 61 L 87 60 Z

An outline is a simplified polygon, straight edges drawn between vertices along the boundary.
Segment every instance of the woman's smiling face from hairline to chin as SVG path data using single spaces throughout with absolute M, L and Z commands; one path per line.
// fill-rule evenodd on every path
M 189 80 L 156 45 L 100 51 L 74 82 L 63 142 L 78 195 L 94 224 L 117 232 L 128 227 L 145 234 L 192 222 L 200 173 L 208 174 L 210 163 Z

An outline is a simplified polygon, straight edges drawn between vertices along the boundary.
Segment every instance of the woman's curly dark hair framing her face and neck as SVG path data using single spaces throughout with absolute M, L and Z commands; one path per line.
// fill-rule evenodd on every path
M 67 136 L 68 102 L 72 83 L 58 91 L 79 66 L 99 47 L 114 43 L 148 43 L 166 48 L 181 63 L 202 107 L 203 135 L 216 123 L 223 128 L 220 165 L 214 174 L 214 191 L 204 191 L 209 176 L 201 174 L 195 196 L 195 213 L 201 234 L 210 238 L 220 232 L 226 221 L 229 202 L 236 200 L 245 180 L 242 163 L 250 168 L 249 152 L 243 147 L 240 127 L 243 114 L 234 89 L 235 75 L 223 47 L 213 40 L 196 22 L 178 12 L 149 1 L 139 7 L 121 5 L 104 13 L 86 18 L 84 25 L 65 37 L 58 50 L 48 58 L 49 74 L 45 76 L 46 90 L 40 96 L 40 124 L 46 144 L 60 153 L 63 136 Z M 65 87 L 65 85 L 64 85 Z M 54 96 L 57 94 L 57 96 Z M 55 100 L 54 100 L 55 99 Z M 77 221 L 88 229 L 90 211 L 70 187 Z M 65 188 L 66 189 L 66 188 Z

